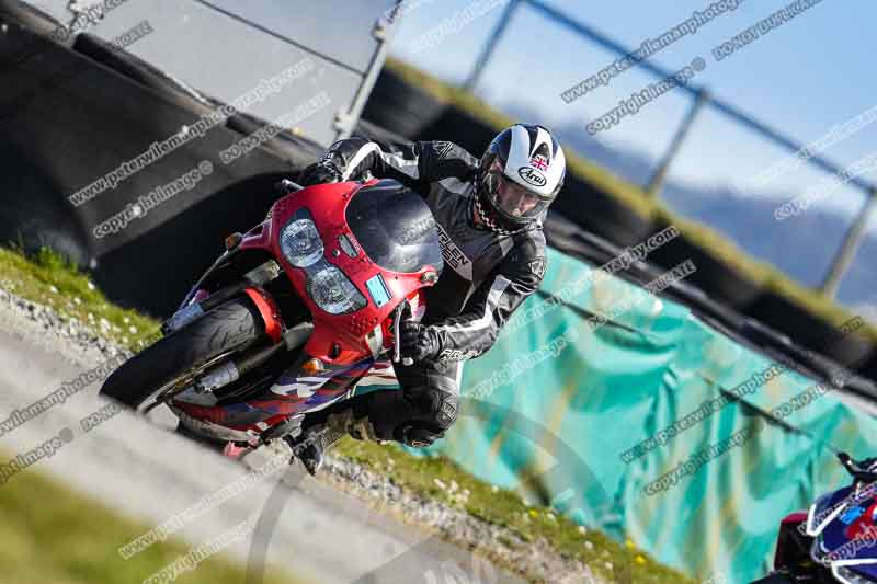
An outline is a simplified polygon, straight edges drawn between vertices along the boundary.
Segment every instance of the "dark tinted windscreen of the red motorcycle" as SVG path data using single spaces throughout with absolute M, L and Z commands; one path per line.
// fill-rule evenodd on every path
M 444 267 L 438 232 L 423 198 L 392 180 L 364 186 L 348 205 L 348 225 L 363 250 L 384 270 Z

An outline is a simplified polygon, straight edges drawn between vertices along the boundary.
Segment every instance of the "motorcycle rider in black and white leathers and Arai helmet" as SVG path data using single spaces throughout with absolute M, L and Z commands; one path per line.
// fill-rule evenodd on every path
M 512 312 L 545 274 L 542 222 L 566 176 L 563 150 L 539 125 L 502 130 L 479 159 L 449 141 L 384 144 L 339 140 L 299 175 L 304 186 L 367 178 L 395 179 L 433 213 L 445 268 L 426 289 L 420 322 L 400 325 L 395 363 L 401 391 L 374 391 L 309 415 L 292 444 L 315 474 L 344 434 L 422 447 L 457 417 L 463 362 L 486 353 Z

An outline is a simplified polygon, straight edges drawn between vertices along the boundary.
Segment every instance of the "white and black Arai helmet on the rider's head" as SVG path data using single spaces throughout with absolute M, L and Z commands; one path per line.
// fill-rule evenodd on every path
M 547 128 L 510 126 L 481 157 L 475 199 L 478 213 L 494 231 L 526 229 L 544 217 L 566 174 L 563 149 Z

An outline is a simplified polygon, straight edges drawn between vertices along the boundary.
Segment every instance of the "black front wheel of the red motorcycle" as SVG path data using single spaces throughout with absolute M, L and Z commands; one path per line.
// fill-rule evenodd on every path
M 168 386 L 251 344 L 263 332 L 262 319 L 249 300 L 230 300 L 122 364 L 106 378 L 101 394 L 144 411 Z

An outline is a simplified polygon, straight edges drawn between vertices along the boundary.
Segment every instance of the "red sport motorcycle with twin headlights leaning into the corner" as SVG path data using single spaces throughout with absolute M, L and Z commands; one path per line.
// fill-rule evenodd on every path
M 400 320 L 423 316 L 443 268 L 422 197 L 374 179 L 281 188 L 102 394 L 143 414 L 166 404 L 187 431 L 251 451 L 399 360 Z

